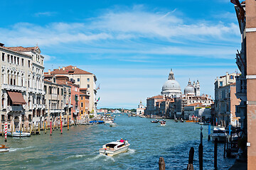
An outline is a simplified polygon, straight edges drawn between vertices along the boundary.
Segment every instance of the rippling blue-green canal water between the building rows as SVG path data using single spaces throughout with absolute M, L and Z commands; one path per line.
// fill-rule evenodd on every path
M 72 126 L 27 138 L 8 137 L 10 152 L 0 154 L 1 169 L 158 169 L 164 157 L 166 169 L 186 169 L 188 153 L 195 148 L 194 168 L 198 165 L 200 125 L 175 123 L 166 126 L 150 123 L 152 119 L 117 115 L 117 127 L 104 125 Z M 203 169 L 213 168 L 213 142 L 208 142 L 208 127 L 203 126 Z M 107 142 L 126 139 L 128 152 L 107 157 L 98 149 Z M 4 137 L 0 137 L 4 143 Z M 218 145 L 218 169 L 228 169 L 235 159 L 223 158 L 223 145 Z

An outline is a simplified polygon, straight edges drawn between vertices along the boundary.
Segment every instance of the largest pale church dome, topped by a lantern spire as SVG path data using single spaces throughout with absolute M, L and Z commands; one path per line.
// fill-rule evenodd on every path
M 178 81 L 174 78 L 174 72 L 169 73 L 168 80 L 164 83 L 161 91 L 161 96 L 170 98 L 180 98 L 181 97 L 181 86 Z

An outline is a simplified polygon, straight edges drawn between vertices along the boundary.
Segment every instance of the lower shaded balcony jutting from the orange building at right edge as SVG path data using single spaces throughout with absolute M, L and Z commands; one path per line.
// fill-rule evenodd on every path
M 236 76 L 236 94 L 242 101 L 247 100 L 246 79 L 244 76 Z

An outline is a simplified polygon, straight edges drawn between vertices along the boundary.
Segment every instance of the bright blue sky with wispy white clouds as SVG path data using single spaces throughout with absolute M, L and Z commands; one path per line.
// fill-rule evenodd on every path
M 97 108 L 137 108 L 173 69 L 181 90 L 236 72 L 240 31 L 230 0 L 1 1 L 0 42 L 38 45 L 45 72 L 68 65 L 97 77 Z

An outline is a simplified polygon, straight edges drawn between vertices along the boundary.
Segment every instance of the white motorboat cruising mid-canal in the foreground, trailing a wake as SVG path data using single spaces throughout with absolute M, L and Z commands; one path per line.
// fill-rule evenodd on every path
M 103 145 L 99 149 L 100 154 L 105 154 L 109 157 L 112 157 L 114 154 L 119 154 L 122 152 L 127 152 L 129 148 L 129 143 L 127 140 L 117 140 L 117 142 L 110 142 L 106 145 Z

